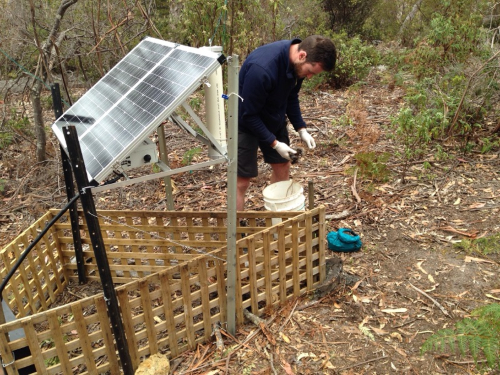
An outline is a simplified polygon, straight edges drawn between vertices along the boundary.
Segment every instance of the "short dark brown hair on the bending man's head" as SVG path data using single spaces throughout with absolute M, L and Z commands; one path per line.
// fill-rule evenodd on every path
M 335 68 L 337 50 L 333 42 L 324 36 L 308 36 L 300 42 L 299 51 L 307 53 L 306 62 L 318 63 L 324 71 L 330 72 Z

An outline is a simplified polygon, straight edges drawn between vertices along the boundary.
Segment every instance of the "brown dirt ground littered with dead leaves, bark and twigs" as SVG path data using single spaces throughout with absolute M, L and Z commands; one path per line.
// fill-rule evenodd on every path
M 313 183 L 315 205 L 324 205 L 330 215 L 328 230 L 347 227 L 362 236 L 361 251 L 328 254 L 342 260 L 351 282 L 319 299 L 302 296 L 262 317 L 267 335 L 252 323 L 239 327 L 235 337 L 223 332 L 224 351 L 206 343 L 172 360 L 174 374 L 479 372 L 469 356 L 421 355 L 420 347 L 433 332 L 500 300 L 498 250 L 484 255 L 456 246 L 500 232 L 498 150 L 459 154 L 450 140 L 441 151 L 448 158 L 429 152 L 405 171 L 398 156 L 402 148 L 390 137 L 390 116 L 401 105 L 403 90 L 381 83 L 376 74 L 371 78 L 357 90 L 304 95 L 304 116 L 318 147 L 306 150 L 292 166 L 292 177 L 306 196 Z M 50 111 L 46 121 L 53 121 Z M 186 152 L 199 146 L 173 126 L 167 125 L 166 134 L 173 165 L 181 165 Z M 292 142 L 299 145 L 295 134 Z M 0 150 L 0 179 L 6 181 L 0 193 L 2 247 L 48 208 L 64 205 L 57 141 L 51 137 L 51 159 L 44 165 L 33 161 L 34 151 L 32 137 L 21 132 Z M 360 167 L 356 155 L 363 152 L 388 153 L 387 170 L 355 173 Z M 205 156 L 195 153 L 193 162 Z M 270 171 L 265 164 L 260 171 L 248 193 L 248 210 L 264 210 L 262 189 Z M 375 181 L 385 173 L 386 181 Z M 227 207 L 225 165 L 175 175 L 173 182 L 176 210 Z M 165 210 L 164 187 L 152 180 L 103 192 L 96 205 Z

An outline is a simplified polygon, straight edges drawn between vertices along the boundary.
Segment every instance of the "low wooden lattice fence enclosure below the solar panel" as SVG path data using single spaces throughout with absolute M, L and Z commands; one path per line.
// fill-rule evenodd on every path
M 4 278 L 51 210 L 0 253 Z M 154 353 L 178 356 L 211 339 L 225 324 L 227 214 L 225 212 L 98 211 L 133 367 Z M 272 219 L 282 222 L 272 225 Z M 325 277 L 325 213 L 244 212 L 238 222 L 236 321 L 315 288 Z M 80 217 L 83 215 L 80 213 Z M 80 219 L 85 271 L 98 281 L 86 225 Z M 71 226 L 55 224 L 4 290 L 17 319 L 0 325 L 7 374 L 28 365 L 37 374 L 121 372 L 102 293 L 54 307 L 69 283 L 78 283 Z M 23 330 L 24 337 L 9 340 Z M 14 358 L 28 346 L 31 356 Z

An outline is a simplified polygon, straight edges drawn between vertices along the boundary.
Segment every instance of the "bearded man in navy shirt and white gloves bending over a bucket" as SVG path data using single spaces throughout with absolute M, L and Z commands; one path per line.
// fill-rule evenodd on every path
M 254 50 L 239 74 L 238 179 L 236 208 L 244 209 L 250 179 L 257 177 L 257 149 L 272 168 L 271 183 L 290 178 L 290 148 L 287 118 L 310 148 L 316 142 L 306 130 L 299 106 L 304 78 L 335 67 L 333 42 L 319 35 L 281 40 Z

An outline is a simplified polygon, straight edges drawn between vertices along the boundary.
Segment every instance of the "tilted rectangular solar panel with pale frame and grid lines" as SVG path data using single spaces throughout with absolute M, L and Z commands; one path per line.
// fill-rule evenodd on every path
M 100 183 L 224 61 L 224 56 L 146 38 L 52 125 L 74 125 L 90 181 Z

